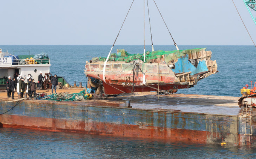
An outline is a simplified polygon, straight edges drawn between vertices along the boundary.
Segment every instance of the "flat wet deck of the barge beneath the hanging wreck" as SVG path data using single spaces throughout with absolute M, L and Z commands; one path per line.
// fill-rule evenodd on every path
M 79 93 L 80 88 L 77 89 L 57 89 L 57 93 Z M 37 90 L 36 92 L 46 92 L 48 90 Z M 46 93 L 51 93 L 49 90 Z M 17 92 L 15 92 L 15 99 L 18 99 Z M 91 99 L 85 101 L 74 102 L 52 102 L 42 100 L 26 100 L 26 102 L 35 103 L 63 103 L 67 105 L 87 105 L 98 107 L 125 107 L 125 102 L 130 100 L 132 108 L 148 109 L 148 110 L 161 110 L 161 111 L 181 111 L 190 113 L 206 113 L 206 114 L 218 114 L 218 115 L 238 115 L 241 113 L 241 108 L 238 107 L 239 97 L 228 96 L 208 96 L 208 95 L 190 95 L 190 94 L 173 94 L 173 95 L 160 95 L 158 101 L 158 95 L 155 92 L 143 92 L 135 94 L 125 94 L 118 96 L 107 96 L 100 99 Z M 11 98 L 7 98 L 7 92 L 0 92 L 1 101 L 11 101 Z

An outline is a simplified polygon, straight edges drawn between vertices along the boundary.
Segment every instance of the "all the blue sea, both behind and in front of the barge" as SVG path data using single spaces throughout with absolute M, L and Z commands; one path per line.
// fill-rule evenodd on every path
M 50 72 L 86 87 L 84 65 L 94 57 L 107 57 L 111 45 L 0 45 L 14 55 L 47 53 Z M 218 73 L 177 93 L 241 96 L 240 89 L 256 82 L 256 48 L 251 45 L 179 45 L 179 49 L 207 48 L 216 60 Z M 143 45 L 115 45 L 130 54 L 143 53 Z M 151 50 L 151 46 L 146 46 Z M 155 50 L 175 50 L 172 45 L 155 45 Z M 27 51 L 27 52 L 21 52 Z M 253 82 L 250 82 L 253 81 Z M 122 159 L 248 159 L 256 148 L 238 145 L 202 144 L 163 139 L 120 138 L 71 132 L 50 132 L 23 128 L 0 128 L 0 158 L 122 158 Z

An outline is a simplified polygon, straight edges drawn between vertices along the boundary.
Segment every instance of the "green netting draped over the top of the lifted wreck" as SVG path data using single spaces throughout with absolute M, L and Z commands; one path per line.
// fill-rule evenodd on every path
M 153 59 L 165 58 L 166 63 L 176 60 L 179 57 L 182 57 L 192 52 L 203 51 L 206 48 L 196 48 L 196 49 L 186 49 L 186 50 L 174 50 L 174 51 L 147 51 L 145 55 L 145 62 L 152 63 Z M 142 60 L 144 61 L 144 54 L 129 54 L 124 49 L 119 49 L 117 53 L 110 54 L 108 61 L 124 61 L 131 62 L 133 60 Z M 105 57 L 95 57 L 92 58 L 92 61 L 106 61 Z

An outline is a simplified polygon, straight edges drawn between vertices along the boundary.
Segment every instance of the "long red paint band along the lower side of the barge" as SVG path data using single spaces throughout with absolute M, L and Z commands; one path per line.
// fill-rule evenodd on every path
M 189 140 L 206 142 L 207 132 L 198 130 L 171 129 L 164 127 L 114 124 L 102 122 L 84 122 L 75 120 L 60 120 L 52 118 L 26 117 L 18 115 L 1 115 L 3 127 L 26 127 L 30 129 L 49 131 L 71 131 L 98 135 L 123 137 L 158 138 L 170 140 Z

